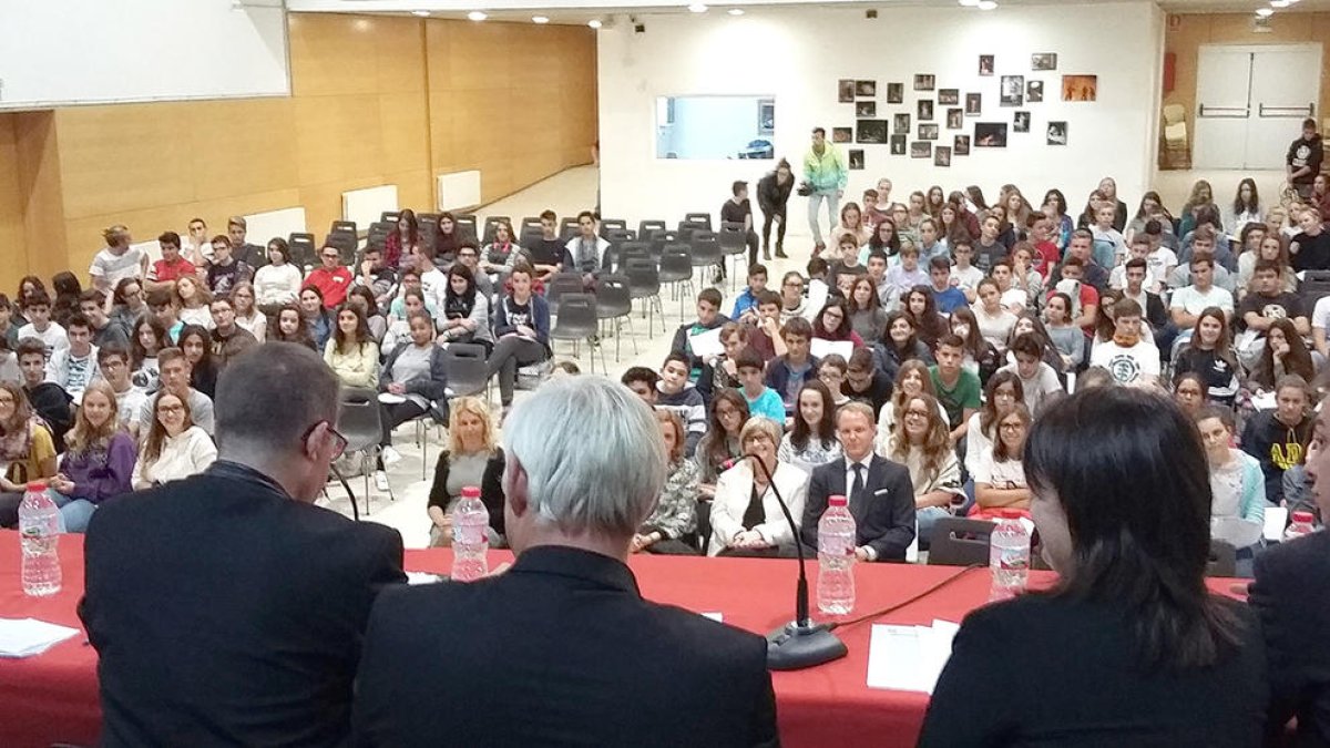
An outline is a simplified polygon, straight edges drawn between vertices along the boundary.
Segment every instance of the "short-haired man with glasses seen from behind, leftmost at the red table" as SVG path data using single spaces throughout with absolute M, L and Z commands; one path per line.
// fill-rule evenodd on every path
M 218 462 L 93 514 L 80 616 L 102 745 L 347 741 L 370 606 L 406 575 L 395 530 L 313 504 L 336 417 L 314 351 L 258 346 L 218 381 Z

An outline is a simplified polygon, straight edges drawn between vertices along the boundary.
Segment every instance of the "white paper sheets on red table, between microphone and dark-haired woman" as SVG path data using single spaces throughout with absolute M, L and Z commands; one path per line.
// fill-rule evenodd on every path
M 872 627 L 868 642 L 868 688 L 932 693 L 951 657 L 951 640 L 960 624 Z

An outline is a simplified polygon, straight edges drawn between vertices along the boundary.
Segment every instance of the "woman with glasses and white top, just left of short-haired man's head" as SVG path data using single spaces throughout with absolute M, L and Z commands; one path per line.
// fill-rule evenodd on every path
M 153 425 L 134 465 L 134 490 L 197 475 L 217 461 L 217 447 L 194 426 L 189 402 L 164 391 L 153 405 Z

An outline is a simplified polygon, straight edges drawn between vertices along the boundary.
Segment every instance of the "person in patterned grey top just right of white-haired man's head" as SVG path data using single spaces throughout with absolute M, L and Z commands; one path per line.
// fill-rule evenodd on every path
M 654 411 L 656 423 L 665 439 L 665 484 L 650 516 L 633 535 L 629 550 L 634 554 L 697 555 L 697 548 L 684 542 L 697 531 L 697 463 L 684 457 L 684 422 L 677 413 Z

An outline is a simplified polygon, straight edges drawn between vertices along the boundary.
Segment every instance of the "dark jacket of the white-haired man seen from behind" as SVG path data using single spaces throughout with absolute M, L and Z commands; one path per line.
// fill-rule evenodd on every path
M 642 600 L 618 560 L 524 551 L 374 604 L 358 745 L 777 745 L 766 642 Z

